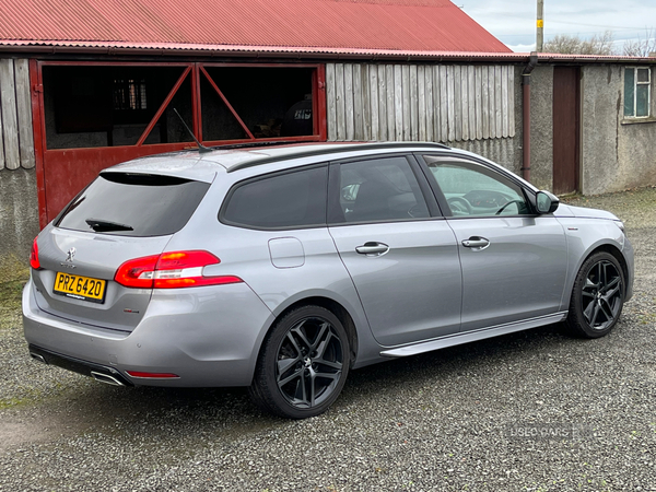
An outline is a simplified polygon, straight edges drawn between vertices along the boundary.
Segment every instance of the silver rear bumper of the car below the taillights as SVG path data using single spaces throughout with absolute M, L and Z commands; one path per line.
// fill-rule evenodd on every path
M 250 385 L 273 315 L 245 283 L 190 291 L 154 291 L 143 318 L 127 332 L 40 311 L 30 281 L 23 291 L 25 339 L 47 363 L 85 375 L 95 371 L 118 376 L 126 385 Z M 131 377 L 127 371 L 179 377 Z

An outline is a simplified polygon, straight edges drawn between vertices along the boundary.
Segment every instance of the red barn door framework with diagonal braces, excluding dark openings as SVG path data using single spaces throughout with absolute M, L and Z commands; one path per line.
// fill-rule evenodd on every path
M 147 126 L 145 130 L 134 145 L 120 147 L 96 147 L 81 149 L 47 149 L 46 121 L 43 92 L 43 68 L 46 66 L 63 67 L 181 67 L 186 68 L 178 78 L 174 87 Z M 238 114 L 234 110 L 220 87 L 214 83 L 204 67 L 248 67 L 248 68 L 312 68 L 314 134 L 307 137 L 280 137 L 268 139 L 256 139 Z M 178 151 L 196 148 L 191 142 L 144 144 L 145 139 L 156 125 L 178 89 L 187 77 L 191 77 L 191 114 L 192 131 L 199 141 L 202 139 L 202 114 L 200 99 L 200 79 L 206 77 L 210 85 L 216 91 L 226 107 L 237 119 L 237 122 L 246 131 L 247 139 L 222 140 L 204 142 L 210 145 L 247 143 L 255 141 L 326 141 L 326 67 L 319 63 L 202 63 L 202 62 L 104 62 L 104 61 L 42 61 L 30 60 L 30 83 L 32 92 L 32 115 L 34 130 L 34 150 L 36 156 L 36 183 L 38 196 L 39 225 L 43 229 L 55 218 L 59 210 L 99 171 L 119 162 L 143 155 L 162 152 Z

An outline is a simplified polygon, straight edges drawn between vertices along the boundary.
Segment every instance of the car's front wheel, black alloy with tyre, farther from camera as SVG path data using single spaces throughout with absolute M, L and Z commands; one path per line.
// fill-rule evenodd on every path
M 586 259 L 574 281 L 566 325 L 577 337 L 599 338 L 618 323 L 624 303 L 624 272 L 609 253 Z

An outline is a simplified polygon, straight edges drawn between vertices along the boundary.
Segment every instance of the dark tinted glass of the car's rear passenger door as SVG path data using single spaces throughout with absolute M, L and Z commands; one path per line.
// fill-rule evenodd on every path
M 345 222 L 430 216 L 406 157 L 342 164 L 340 181 L 340 206 Z

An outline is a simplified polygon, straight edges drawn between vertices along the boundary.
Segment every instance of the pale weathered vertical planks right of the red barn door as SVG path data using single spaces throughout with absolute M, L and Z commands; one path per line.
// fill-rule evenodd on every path
M 515 136 L 513 66 L 327 63 L 328 140 Z

